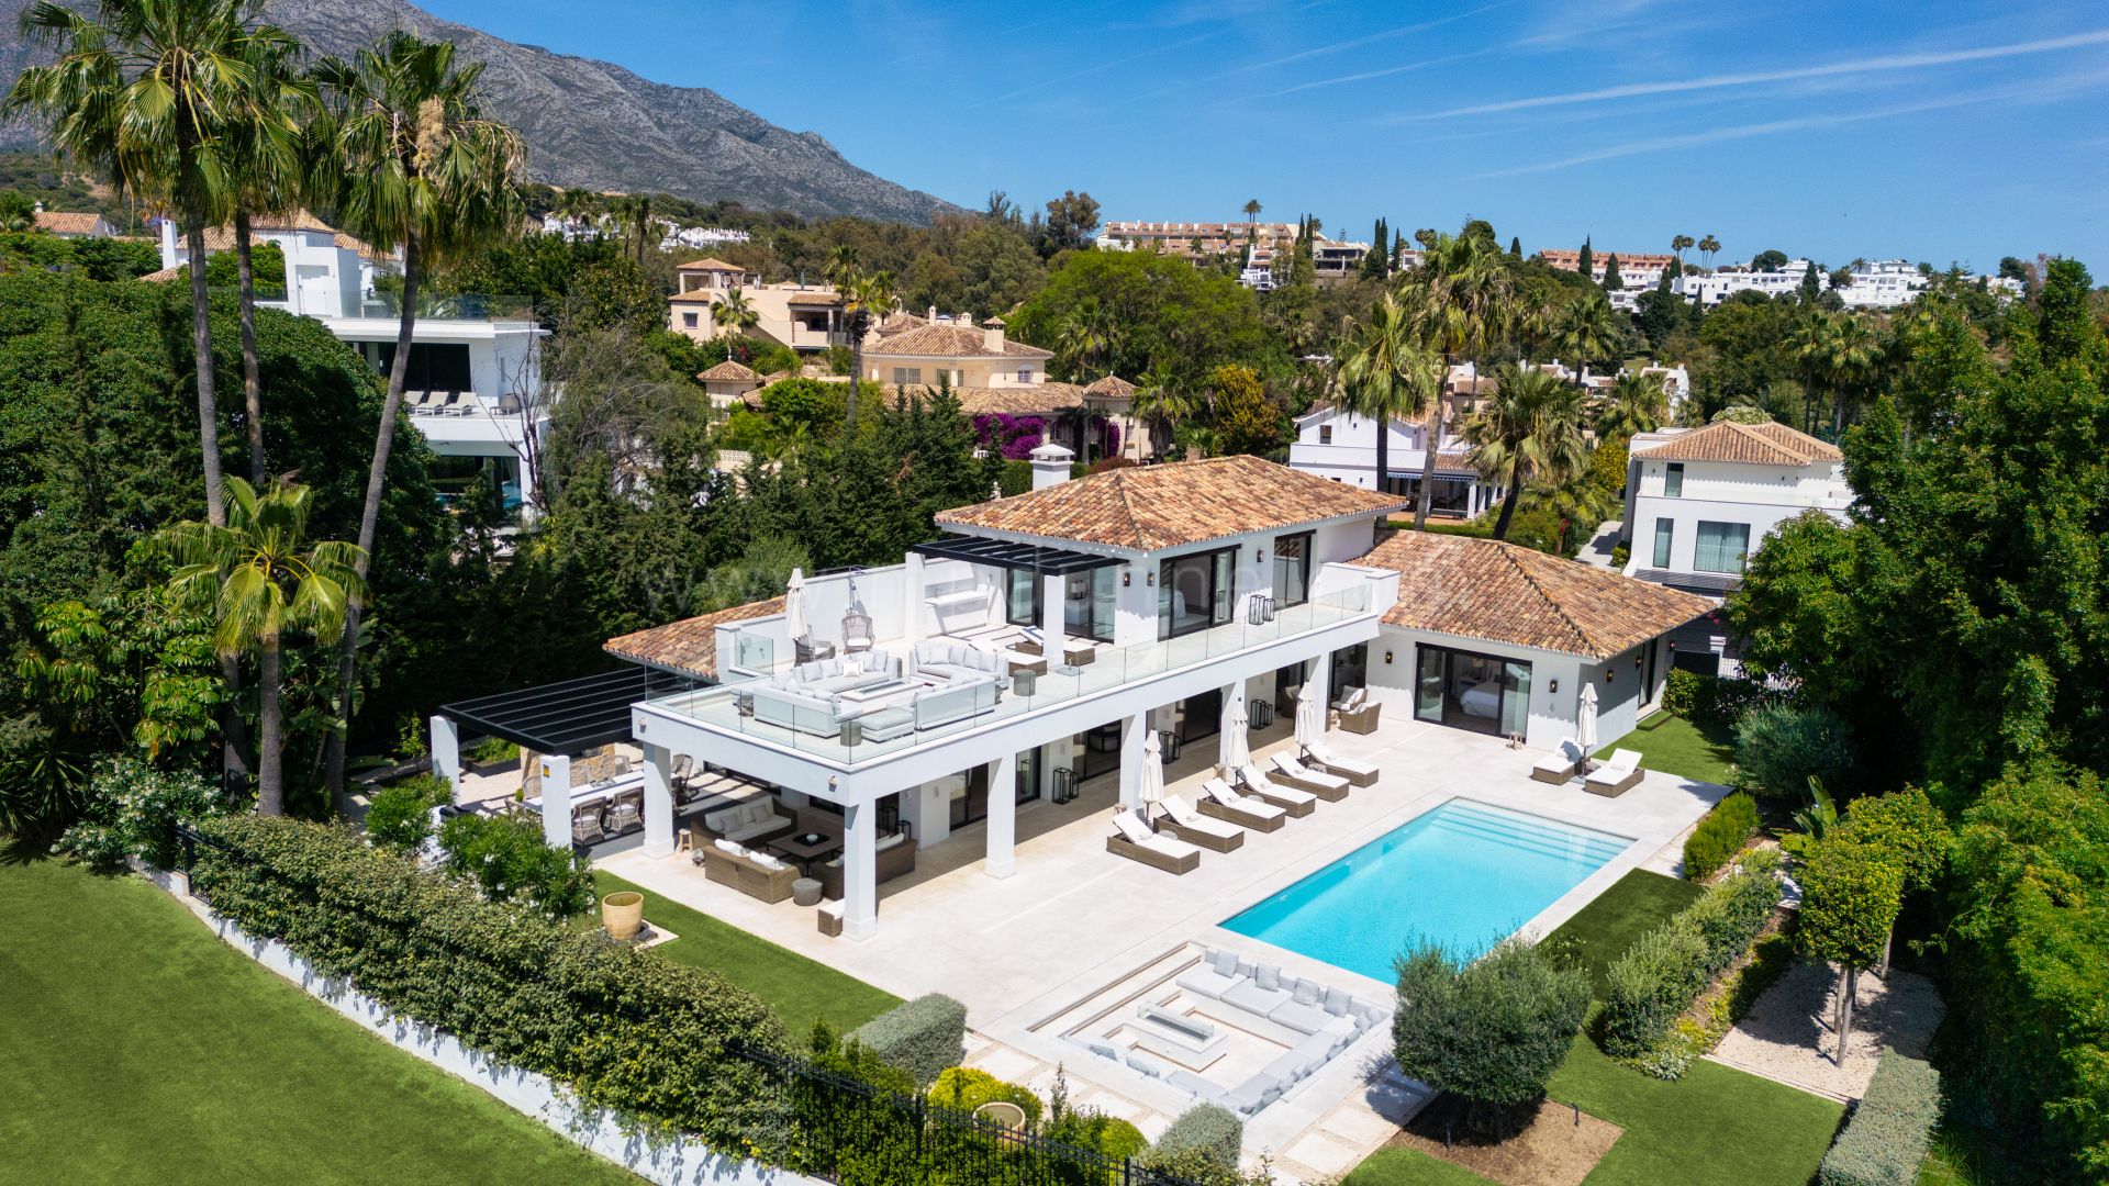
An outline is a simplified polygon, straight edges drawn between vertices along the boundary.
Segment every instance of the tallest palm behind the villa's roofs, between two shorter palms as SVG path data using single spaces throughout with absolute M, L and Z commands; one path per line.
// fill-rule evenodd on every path
M 1419 236 L 1415 236 L 1419 238 Z M 1516 279 L 1502 260 L 1499 245 L 1485 234 L 1434 234 L 1421 238 L 1421 266 L 1407 272 L 1400 298 L 1421 344 L 1443 355 L 1443 378 L 1455 359 L 1478 361 L 1516 325 Z M 1436 449 L 1443 445 L 1443 401 L 1436 401 L 1421 462 L 1421 498 L 1413 528 L 1428 525 L 1434 496 Z

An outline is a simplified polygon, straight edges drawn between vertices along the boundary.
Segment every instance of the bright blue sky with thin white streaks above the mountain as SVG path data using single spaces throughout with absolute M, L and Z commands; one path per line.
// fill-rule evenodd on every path
M 2101 4 L 428 0 L 711 87 L 966 207 L 1487 217 L 1525 249 L 1778 247 L 2109 276 Z M 588 17 L 582 17 L 591 13 Z

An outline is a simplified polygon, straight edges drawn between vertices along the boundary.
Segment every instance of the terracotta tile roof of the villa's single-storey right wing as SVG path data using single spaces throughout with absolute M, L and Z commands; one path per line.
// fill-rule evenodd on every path
M 1398 532 L 1356 563 L 1398 572 L 1386 625 L 1609 658 L 1715 608 L 1521 544 Z

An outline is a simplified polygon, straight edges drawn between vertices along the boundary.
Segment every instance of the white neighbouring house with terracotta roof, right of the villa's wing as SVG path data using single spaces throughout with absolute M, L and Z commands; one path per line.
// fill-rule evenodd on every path
M 1626 574 L 1719 597 L 1782 521 L 1805 511 L 1843 521 L 1850 506 L 1837 445 L 1786 424 L 1641 433 L 1626 462 Z

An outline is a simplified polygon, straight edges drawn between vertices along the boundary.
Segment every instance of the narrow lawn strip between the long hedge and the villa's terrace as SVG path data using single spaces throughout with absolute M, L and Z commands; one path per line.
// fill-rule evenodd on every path
M 671 943 L 652 948 L 654 952 L 681 964 L 717 971 L 753 992 L 776 1009 L 793 1038 L 804 1038 L 814 1019 L 825 1017 L 837 1030 L 854 1030 L 901 1005 L 901 998 L 890 992 L 879 992 L 860 979 L 846 977 L 823 962 L 808 960 L 709 914 L 698 914 L 614 874 L 595 872 L 593 880 L 603 895 L 616 891 L 645 895 L 645 920 L 679 935 Z

